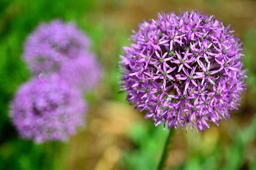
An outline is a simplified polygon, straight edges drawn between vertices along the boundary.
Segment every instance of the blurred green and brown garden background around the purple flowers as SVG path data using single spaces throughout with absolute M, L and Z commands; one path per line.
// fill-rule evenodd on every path
M 254 0 L 0 0 L 0 169 L 155 170 L 168 130 L 154 127 L 118 93 L 119 55 L 131 29 L 157 12 L 198 9 L 230 23 L 244 42 L 247 92 L 239 111 L 205 133 L 177 130 L 167 169 L 256 170 L 256 1 Z M 104 69 L 84 97 L 84 129 L 67 143 L 35 145 L 9 120 L 17 88 L 30 78 L 21 60 L 26 36 L 41 21 L 74 21 L 90 36 Z

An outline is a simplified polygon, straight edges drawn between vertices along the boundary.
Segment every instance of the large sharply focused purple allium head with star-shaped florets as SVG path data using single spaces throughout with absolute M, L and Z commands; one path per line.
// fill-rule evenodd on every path
M 197 11 L 164 12 L 133 33 L 120 84 L 156 126 L 204 131 L 238 109 L 246 75 L 242 43 L 230 26 Z

